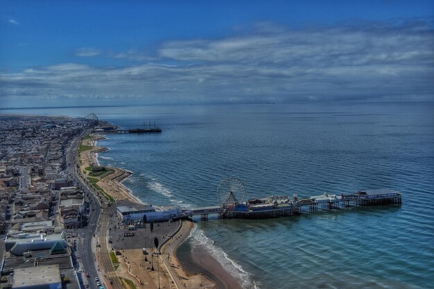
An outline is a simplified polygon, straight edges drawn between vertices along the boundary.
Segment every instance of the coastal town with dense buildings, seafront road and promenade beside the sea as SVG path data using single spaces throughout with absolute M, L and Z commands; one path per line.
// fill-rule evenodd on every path
M 121 184 L 132 172 L 98 164 L 111 129 L 0 117 L 1 288 L 216 288 L 176 257 L 193 228 L 184 210 L 144 204 Z

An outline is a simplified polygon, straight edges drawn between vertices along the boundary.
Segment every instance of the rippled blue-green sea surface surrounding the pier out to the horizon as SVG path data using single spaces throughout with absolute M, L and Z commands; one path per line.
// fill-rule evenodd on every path
M 269 220 L 198 222 L 202 244 L 244 288 L 433 288 L 434 103 L 296 103 L 1 110 L 94 112 L 123 128 L 156 121 L 161 134 L 109 134 L 98 156 L 132 170 L 143 202 L 216 205 L 226 177 L 245 199 L 396 189 L 399 207 Z

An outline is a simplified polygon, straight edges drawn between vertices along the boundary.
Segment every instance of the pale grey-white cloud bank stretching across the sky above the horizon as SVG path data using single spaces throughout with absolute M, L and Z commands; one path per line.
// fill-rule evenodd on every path
M 105 53 L 128 58 L 128 67 L 67 63 L 2 73 L 0 97 L 34 103 L 79 99 L 89 105 L 92 100 L 125 104 L 125 98 L 130 103 L 434 100 L 433 47 L 432 19 L 298 29 L 259 23 L 220 39 Z

